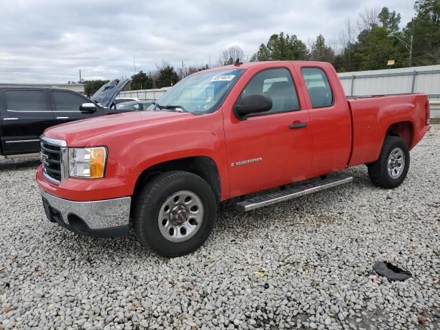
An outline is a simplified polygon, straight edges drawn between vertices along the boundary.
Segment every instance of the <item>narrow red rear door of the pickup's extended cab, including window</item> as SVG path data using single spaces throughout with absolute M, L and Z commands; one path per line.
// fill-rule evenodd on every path
M 351 151 L 351 115 L 336 71 L 331 65 L 296 68 L 314 136 L 311 176 L 342 170 Z

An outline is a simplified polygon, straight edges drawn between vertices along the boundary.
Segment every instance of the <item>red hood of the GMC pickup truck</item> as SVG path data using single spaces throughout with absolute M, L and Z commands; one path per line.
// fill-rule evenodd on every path
M 149 126 L 170 120 L 191 117 L 191 113 L 171 111 L 133 111 L 102 115 L 96 118 L 78 120 L 53 126 L 43 134 L 58 140 L 65 140 L 67 146 L 87 146 L 87 142 L 104 135 L 118 135 L 118 133 L 140 126 Z

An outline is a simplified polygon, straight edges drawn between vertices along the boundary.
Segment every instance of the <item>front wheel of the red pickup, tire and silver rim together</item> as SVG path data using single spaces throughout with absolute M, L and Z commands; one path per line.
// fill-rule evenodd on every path
M 133 226 L 144 247 L 166 257 L 197 250 L 214 225 L 217 201 L 201 177 L 172 171 L 152 179 L 133 209 Z

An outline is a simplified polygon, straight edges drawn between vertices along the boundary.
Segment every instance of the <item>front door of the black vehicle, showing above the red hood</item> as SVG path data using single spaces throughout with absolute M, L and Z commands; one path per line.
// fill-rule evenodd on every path
M 102 115 L 101 109 L 98 108 L 94 113 L 81 112 L 81 104 L 90 103 L 90 100 L 74 91 L 52 89 L 50 98 L 53 104 L 54 117 L 58 124 Z

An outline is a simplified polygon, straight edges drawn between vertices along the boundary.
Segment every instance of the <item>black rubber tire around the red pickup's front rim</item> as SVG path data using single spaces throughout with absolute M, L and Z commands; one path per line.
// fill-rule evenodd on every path
M 203 204 L 203 217 L 193 236 L 186 241 L 173 242 L 166 239 L 159 229 L 159 212 L 170 196 L 182 190 L 197 195 Z M 133 208 L 133 227 L 145 248 L 172 258 L 197 250 L 208 239 L 216 216 L 217 200 L 208 183 L 195 174 L 176 170 L 154 177 L 142 188 Z

